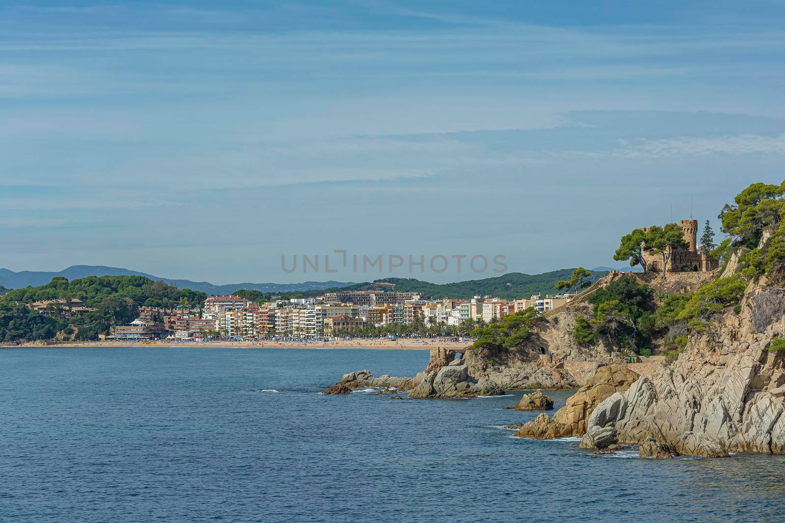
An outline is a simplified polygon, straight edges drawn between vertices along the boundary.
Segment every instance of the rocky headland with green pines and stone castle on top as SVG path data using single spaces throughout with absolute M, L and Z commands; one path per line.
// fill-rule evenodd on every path
M 728 238 L 719 246 L 705 232 L 696 242 L 695 220 L 635 229 L 615 258 L 643 273 L 612 272 L 557 310 L 501 318 L 477 329 L 472 347 L 431 350 L 416 376 L 351 372 L 326 394 L 577 389 L 515 435 L 580 437 L 594 452 L 638 445 L 653 458 L 785 454 L 783 194 L 785 182 L 737 195 L 722 209 Z M 580 286 L 580 274 L 573 279 Z M 519 407 L 546 410 L 549 401 L 539 392 Z

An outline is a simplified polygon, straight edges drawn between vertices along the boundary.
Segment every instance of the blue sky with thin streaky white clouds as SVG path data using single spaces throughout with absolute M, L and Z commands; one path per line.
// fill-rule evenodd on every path
M 0 267 L 619 266 L 785 179 L 785 3 L 544 3 L 2 2 Z

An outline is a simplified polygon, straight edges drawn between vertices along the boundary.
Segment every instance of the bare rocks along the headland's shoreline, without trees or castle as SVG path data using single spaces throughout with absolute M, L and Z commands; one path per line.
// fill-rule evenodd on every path
M 542 412 L 515 425 L 515 435 L 577 436 L 582 448 L 599 452 L 638 445 L 641 457 L 659 459 L 785 454 L 785 354 L 769 351 L 780 336 L 785 336 L 785 290 L 750 284 L 740 307 L 728 307 L 711 318 L 711 328 L 692 332 L 670 365 L 639 376 L 625 365 L 596 361 L 567 405 L 553 417 Z M 557 360 L 560 351 L 531 354 L 539 341 L 510 351 L 517 359 L 506 367 L 481 361 L 471 349 L 437 348 L 417 376 L 350 372 L 325 394 L 378 387 L 407 391 L 409 398 L 473 398 L 505 389 L 577 386 L 579 378 L 564 372 L 564 360 Z M 524 396 L 521 409 L 548 409 L 540 394 Z

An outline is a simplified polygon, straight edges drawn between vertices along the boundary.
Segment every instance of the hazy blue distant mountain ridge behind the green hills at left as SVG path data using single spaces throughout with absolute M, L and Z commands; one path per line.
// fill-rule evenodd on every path
M 195 291 L 206 292 L 214 296 L 231 294 L 237 289 L 253 289 L 272 294 L 285 292 L 305 292 L 317 291 L 321 289 L 335 289 L 347 285 L 355 285 L 353 281 L 303 281 L 302 283 L 232 283 L 229 285 L 213 285 L 208 281 L 173 280 L 171 278 L 159 278 L 152 274 L 138 271 L 129 271 L 119 267 L 104 267 L 103 265 L 72 265 L 68 269 L 57 272 L 49 271 L 20 271 L 14 272 L 8 269 L 0 269 L 0 285 L 9 289 L 22 289 L 31 285 L 46 285 L 52 278 L 62 276 L 69 281 L 86 278 L 87 276 L 144 276 L 152 280 L 166 281 L 170 285 L 176 285 L 180 289 L 192 289 Z

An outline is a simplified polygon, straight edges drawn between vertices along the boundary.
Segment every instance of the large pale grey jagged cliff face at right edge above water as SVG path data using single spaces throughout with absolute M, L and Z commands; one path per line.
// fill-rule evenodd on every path
M 670 366 L 598 405 L 584 446 L 602 432 L 604 441 L 655 441 L 685 456 L 785 454 L 785 351 L 774 350 L 780 336 L 785 290 L 748 286 L 739 313 L 716 314 Z

